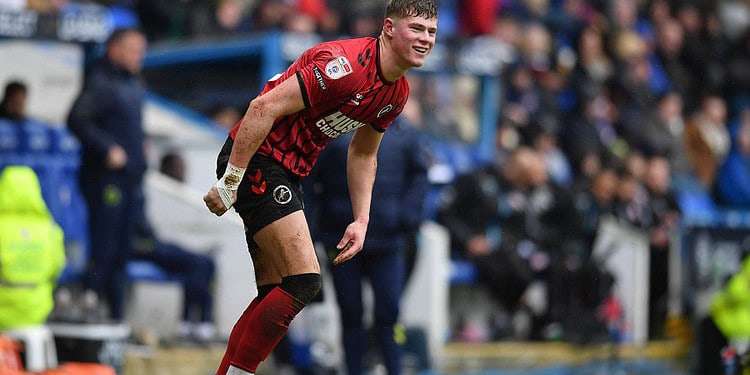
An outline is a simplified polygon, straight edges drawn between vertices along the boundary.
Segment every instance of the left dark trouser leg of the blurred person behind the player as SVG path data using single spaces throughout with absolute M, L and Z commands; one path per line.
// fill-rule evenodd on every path
M 349 375 L 362 374 L 362 363 L 367 353 L 367 331 L 362 321 L 362 267 L 367 259 L 366 255 L 360 254 L 331 268 L 336 300 L 341 311 L 341 341 Z

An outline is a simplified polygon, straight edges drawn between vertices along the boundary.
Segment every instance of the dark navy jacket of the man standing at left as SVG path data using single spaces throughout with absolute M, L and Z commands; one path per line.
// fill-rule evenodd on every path
M 146 170 L 141 109 L 145 88 L 136 75 L 104 59 L 86 77 L 83 91 L 73 104 L 68 127 L 81 141 L 82 169 L 106 171 L 107 151 L 120 145 L 128 155 L 124 172 L 141 176 Z

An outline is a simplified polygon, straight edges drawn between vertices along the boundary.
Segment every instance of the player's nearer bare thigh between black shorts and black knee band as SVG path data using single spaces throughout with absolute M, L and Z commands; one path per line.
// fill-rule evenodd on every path
M 320 273 L 310 229 L 303 211 L 296 211 L 263 227 L 253 236 L 264 257 L 281 276 Z

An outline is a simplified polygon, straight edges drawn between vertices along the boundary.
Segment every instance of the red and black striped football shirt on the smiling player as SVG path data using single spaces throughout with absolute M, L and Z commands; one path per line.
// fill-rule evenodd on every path
M 385 131 L 409 97 L 406 78 L 383 78 L 376 38 L 318 44 L 268 81 L 261 95 L 292 77 L 302 88 L 305 109 L 277 119 L 257 152 L 300 177 L 310 173 L 323 148 L 341 134 L 365 125 Z M 230 132 L 232 140 L 238 130 L 239 123 Z

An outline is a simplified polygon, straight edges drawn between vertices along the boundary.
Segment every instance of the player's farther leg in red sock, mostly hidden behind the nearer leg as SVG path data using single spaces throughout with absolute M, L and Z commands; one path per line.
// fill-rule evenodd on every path
M 250 321 L 250 315 L 255 307 L 258 306 L 260 301 L 262 301 L 263 298 L 273 290 L 273 288 L 281 285 L 281 272 L 276 268 L 272 259 L 267 253 L 262 253 L 257 249 L 257 245 L 252 238 L 248 238 L 247 241 L 248 246 L 250 247 L 250 255 L 253 259 L 258 295 L 250 302 L 250 305 L 248 305 L 245 311 L 242 312 L 242 315 L 240 315 L 239 319 L 237 319 L 237 322 L 234 324 L 234 327 L 232 327 L 232 332 L 229 334 L 227 349 L 224 352 L 224 357 L 221 360 L 219 369 L 216 371 L 217 375 L 224 375 L 227 373 L 229 362 L 240 345 L 242 334 L 247 328 L 248 322 Z

